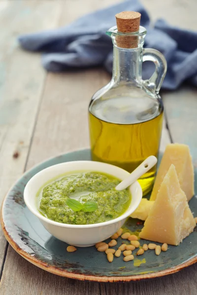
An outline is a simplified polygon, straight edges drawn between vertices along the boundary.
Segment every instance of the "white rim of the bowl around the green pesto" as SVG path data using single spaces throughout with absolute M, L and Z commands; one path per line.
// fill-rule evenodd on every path
M 48 170 L 48 169 L 53 169 L 53 167 L 57 167 L 57 166 L 60 166 L 60 165 L 64 165 L 66 163 L 72 163 L 72 162 L 92 162 L 90 160 L 84 160 L 84 161 L 70 161 L 70 162 L 64 162 L 64 163 L 59 163 L 59 164 L 55 164 L 55 165 L 52 165 L 52 166 L 49 166 L 41 171 L 39 171 L 38 173 L 36 173 L 33 177 L 39 175 L 39 174 L 42 174 L 45 170 Z M 122 170 L 124 172 L 127 172 L 128 174 L 130 174 L 128 171 L 118 167 L 118 166 L 115 166 L 115 165 L 111 165 L 111 164 L 108 164 L 108 163 L 102 163 L 102 162 L 98 162 L 98 161 L 94 161 L 94 163 L 101 163 L 103 166 L 111 166 L 111 167 L 116 167 L 116 169 L 118 168 L 119 170 Z M 85 169 L 86 170 L 86 169 Z M 84 171 L 85 171 L 84 170 Z M 87 169 L 88 171 L 88 169 Z M 72 170 L 70 170 L 70 172 L 72 172 Z M 73 170 L 74 172 L 74 170 Z M 69 172 L 68 172 L 69 173 Z M 105 173 L 105 172 L 104 172 Z M 108 174 L 108 173 L 107 173 Z M 110 175 L 110 174 L 109 174 Z M 35 210 L 30 204 L 29 204 L 29 201 L 28 201 L 28 193 L 27 193 L 27 189 L 28 189 L 28 184 L 30 183 L 30 181 L 33 179 L 33 177 L 27 182 L 26 186 L 25 186 L 25 189 L 24 189 L 24 194 L 23 194 L 23 198 L 24 198 L 24 202 L 26 204 L 26 206 L 29 208 L 29 210 L 33 213 L 33 215 L 35 215 L 36 217 L 38 217 L 39 219 L 42 219 L 43 221 L 49 223 L 49 224 L 52 224 L 52 225 L 55 225 L 55 226 L 59 226 L 59 227 L 63 227 L 63 228 L 94 228 L 94 227 L 100 227 L 100 226 L 105 226 L 105 225 L 110 225 L 110 224 L 113 224 L 113 223 L 116 223 L 118 221 L 121 221 L 123 220 L 124 218 L 127 218 L 129 217 L 129 215 L 131 215 L 131 213 L 139 206 L 139 203 L 142 199 L 142 188 L 139 184 L 139 182 L 136 180 L 134 181 L 131 185 L 131 186 L 135 186 L 137 189 L 140 190 L 140 198 L 139 198 L 139 202 L 137 202 L 136 206 L 134 206 L 134 210 L 132 210 L 130 212 L 130 206 L 131 206 L 131 203 L 130 203 L 130 206 L 128 207 L 127 211 L 125 211 L 122 215 L 120 215 L 119 217 L 115 218 L 115 219 L 111 219 L 109 221 L 104 221 L 104 222 L 100 222 L 100 223 L 94 223 L 94 224 L 68 224 L 68 223 L 61 223 L 61 222 L 57 222 L 57 221 L 53 221 L 45 216 L 43 216 L 38 210 Z M 58 177 L 58 175 L 57 175 Z M 131 198 L 131 202 L 132 202 L 132 198 Z

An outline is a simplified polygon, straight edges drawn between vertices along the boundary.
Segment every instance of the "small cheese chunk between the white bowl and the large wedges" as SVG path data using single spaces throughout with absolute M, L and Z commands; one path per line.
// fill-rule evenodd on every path
M 154 203 L 155 203 L 155 201 L 149 201 L 149 200 L 143 198 L 141 200 L 141 202 L 139 203 L 139 206 L 137 207 L 137 209 L 134 210 L 134 212 L 132 212 L 132 214 L 130 216 L 132 218 L 146 220 L 146 218 L 148 217 L 148 213 L 149 213 L 150 209 L 153 207 Z

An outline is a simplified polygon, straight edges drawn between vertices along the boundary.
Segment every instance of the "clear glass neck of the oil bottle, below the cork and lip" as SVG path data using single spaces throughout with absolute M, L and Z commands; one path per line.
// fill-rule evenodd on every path
M 141 85 L 142 49 L 142 47 L 125 49 L 114 46 L 113 83 Z

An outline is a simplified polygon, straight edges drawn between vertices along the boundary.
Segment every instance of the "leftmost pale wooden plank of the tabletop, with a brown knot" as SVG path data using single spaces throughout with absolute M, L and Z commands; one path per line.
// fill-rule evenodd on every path
M 45 78 L 40 56 L 19 49 L 16 38 L 54 26 L 57 8 L 51 8 L 50 1 L 0 2 L 0 203 L 24 171 Z M 0 230 L 0 268 L 5 244 Z

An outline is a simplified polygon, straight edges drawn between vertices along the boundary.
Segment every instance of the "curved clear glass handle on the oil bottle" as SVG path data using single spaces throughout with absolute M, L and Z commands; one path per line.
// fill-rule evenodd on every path
M 153 61 L 156 69 L 150 79 L 144 80 L 143 85 L 151 92 L 159 93 L 167 71 L 164 55 L 156 49 L 144 48 L 142 61 Z

